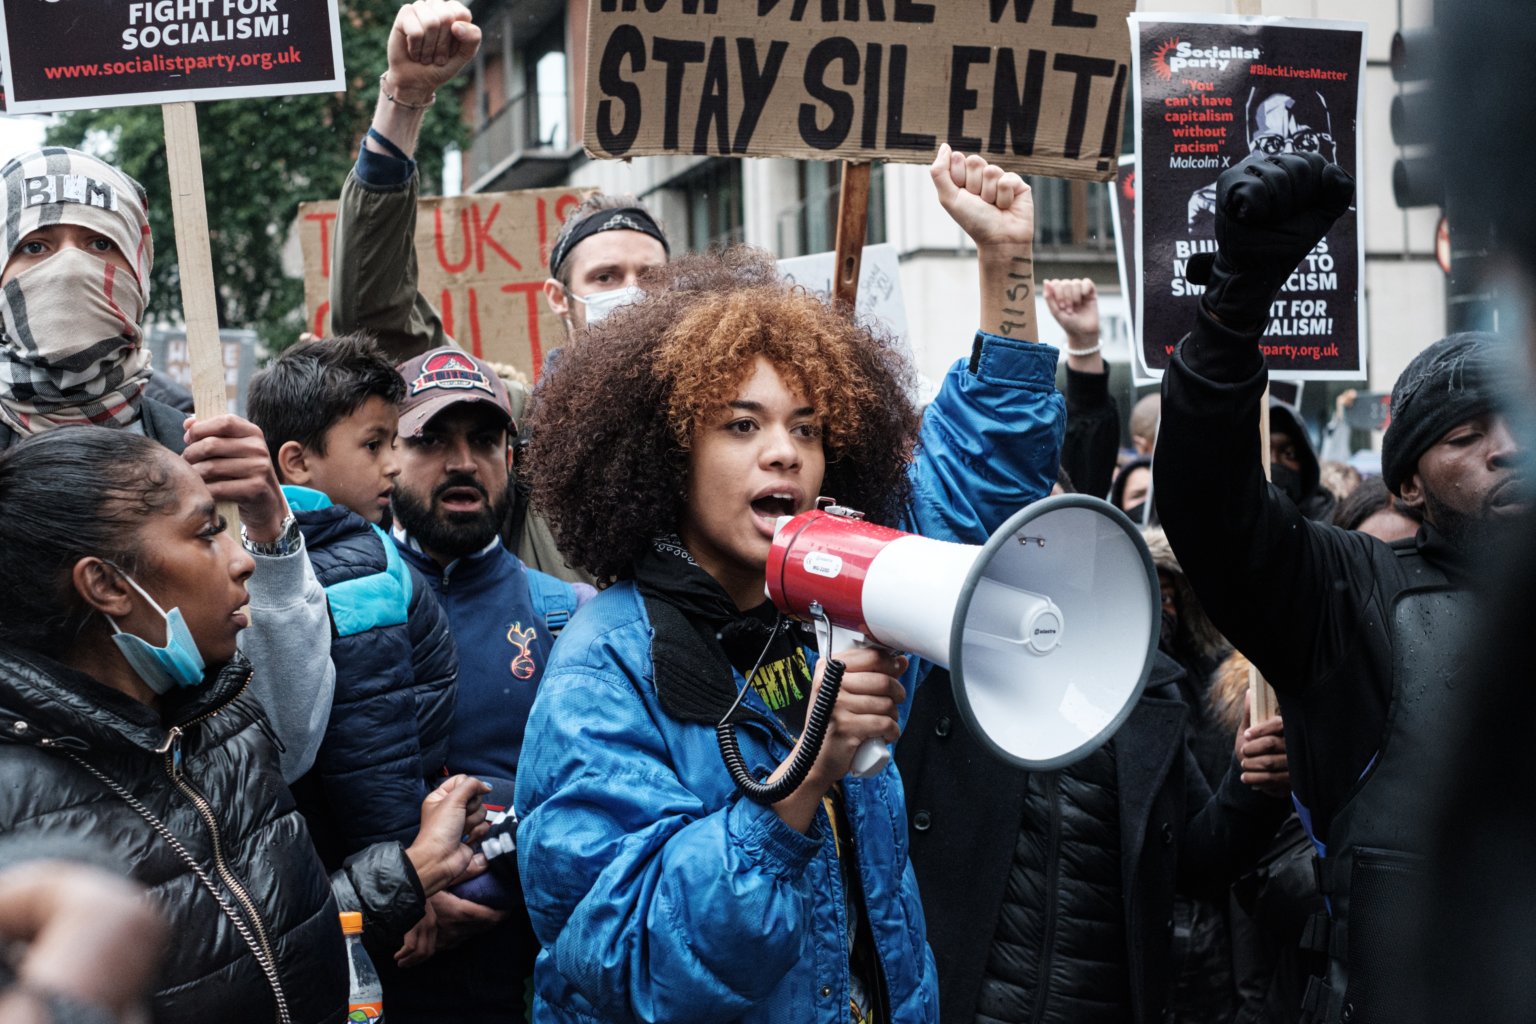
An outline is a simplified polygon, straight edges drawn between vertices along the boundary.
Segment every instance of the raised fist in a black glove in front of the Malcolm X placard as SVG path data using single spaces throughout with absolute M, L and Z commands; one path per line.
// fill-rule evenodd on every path
M 1189 261 L 1204 284 L 1206 312 L 1232 327 L 1253 327 L 1286 278 L 1327 233 L 1355 180 L 1316 154 L 1253 155 L 1217 178 L 1217 252 Z

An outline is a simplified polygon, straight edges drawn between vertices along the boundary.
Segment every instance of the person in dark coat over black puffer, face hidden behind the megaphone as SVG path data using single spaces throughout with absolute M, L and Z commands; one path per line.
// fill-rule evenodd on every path
M 1243 746 L 1247 774 L 1220 755 L 1212 792 L 1184 694 L 1203 685 L 1158 651 L 1120 731 L 1049 772 L 971 735 L 948 677 L 917 691 L 895 761 L 945 1024 L 1166 1018 L 1175 890 L 1224 897 L 1289 811 L 1278 718 Z

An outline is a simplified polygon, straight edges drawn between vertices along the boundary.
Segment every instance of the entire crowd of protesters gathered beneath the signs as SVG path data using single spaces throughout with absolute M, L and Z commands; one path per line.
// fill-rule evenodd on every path
M 1422 339 L 1379 477 L 1281 402 L 1255 436 L 1256 342 L 1352 207 L 1338 166 L 1218 178 L 1129 453 L 1094 282 L 1040 289 L 1061 395 L 1031 189 L 948 146 L 980 319 L 926 408 L 768 253 L 674 253 L 610 195 L 551 246 L 565 345 L 530 388 L 418 290 L 416 138 L 479 41 L 456 0 L 399 11 L 335 335 L 258 373 L 249 419 L 149 393 L 143 189 L 60 147 L 0 167 L 0 1022 L 341 1021 L 338 912 L 396 1024 L 1525 1019 L 1536 818 L 1488 795 L 1528 582 L 1467 657 L 1490 557 L 1531 563 L 1501 341 Z M 1536 279 L 1536 230 L 1505 246 Z M 820 657 L 765 599 L 819 496 L 977 545 L 1074 490 L 1141 531 L 1161 619 L 1064 768 L 1003 763 L 943 669 Z M 874 740 L 894 761 L 849 774 Z

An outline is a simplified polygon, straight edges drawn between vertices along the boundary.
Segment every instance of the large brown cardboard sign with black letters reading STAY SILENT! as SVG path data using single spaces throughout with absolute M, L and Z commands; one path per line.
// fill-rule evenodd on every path
M 593 0 L 587 152 L 929 163 L 1107 181 L 1135 0 Z

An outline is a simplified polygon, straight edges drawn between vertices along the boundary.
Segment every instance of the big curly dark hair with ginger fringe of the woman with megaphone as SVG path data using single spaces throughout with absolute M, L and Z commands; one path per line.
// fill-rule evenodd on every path
M 571 565 L 624 579 L 651 537 L 677 531 L 694 431 L 757 356 L 822 415 L 822 493 L 897 519 L 919 415 L 888 339 L 745 246 L 680 256 L 647 287 L 565 347 L 528 421 L 533 504 Z

